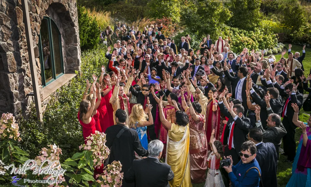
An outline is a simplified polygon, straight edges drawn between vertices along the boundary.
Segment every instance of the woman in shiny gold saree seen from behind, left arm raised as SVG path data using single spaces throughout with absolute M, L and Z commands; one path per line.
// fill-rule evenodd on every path
M 168 129 L 165 163 L 171 166 L 174 179 L 169 181 L 171 187 L 190 187 L 190 158 L 189 158 L 189 118 L 183 111 L 176 111 L 175 123 L 165 119 L 162 97 L 159 102 L 160 120 Z

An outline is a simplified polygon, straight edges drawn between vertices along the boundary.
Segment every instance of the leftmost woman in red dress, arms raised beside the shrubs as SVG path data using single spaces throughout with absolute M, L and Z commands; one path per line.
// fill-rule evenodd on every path
M 87 81 L 87 87 L 90 87 L 88 84 L 88 81 Z M 93 88 L 94 93 L 96 93 L 95 83 L 92 84 L 92 88 Z M 84 93 L 84 95 L 86 94 Z M 94 117 L 92 117 L 94 109 L 95 109 L 96 94 L 95 94 L 95 97 L 93 96 L 93 94 L 90 94 L 90 95 L 92 96 L 91 102 L 89 100 L 83 99 L 80 103 L 79 112 L 78 112 L 78 120 L 82 126 L 82 132 L 83 132 L 83 138 L 84 138 L 85 144 L 86 144 L 86 138 L 91 136 L 91 134 L 95 134 L 95 131 L 96 131 L 96 122 L 95 122 Z M 97 94 L 97 95 L 100 95 L 100 94 Z

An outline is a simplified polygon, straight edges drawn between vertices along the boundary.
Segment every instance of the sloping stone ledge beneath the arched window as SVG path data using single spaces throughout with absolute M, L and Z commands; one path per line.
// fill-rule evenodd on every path
M 51 84 L 47 85 L 43 88 L 43 100 L 48 98 L 52 93 L 54 93 L 57 89 L 62 87 L 64 84 L 69 82 L 72 78 L 76 76 L 75 73 L 66 73 L 63 74 L 58 79 L 54 80 Z

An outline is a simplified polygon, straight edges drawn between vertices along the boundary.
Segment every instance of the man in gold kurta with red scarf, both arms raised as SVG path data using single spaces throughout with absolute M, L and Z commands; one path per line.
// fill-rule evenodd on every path
M 128 113 L 128 98 L 127 96 L 124 97 L 124 95 L 126 95 L 128 93 L 128 90 L 131 87 L 132 81 L 133 81 L 133 75 L 131 74 L 130 77 L 128 77 L 128 82 L 125 84 L 125 86 L 120 86 L 119 82 L 120 82 L 121 78 L 117 79 L 116 85 L 114 87 L 114 92 L 112 93 L 112 96 L 110 98 L 109 103 L 111 103 L 112 108 L 114 109 L 114 116 L 116 111 L 121 108 L 121 103 L 122 101 L 120 101 L 119 96 L 122 97 L 123 99 L 123 105 L 124 105 L 124 110 L 127 113 L 127 115 L 129 116 Z M 117 124 L 114 118 L 114 124 Z M 128 124 L 128 118 L 126 120 L 126 124 Z

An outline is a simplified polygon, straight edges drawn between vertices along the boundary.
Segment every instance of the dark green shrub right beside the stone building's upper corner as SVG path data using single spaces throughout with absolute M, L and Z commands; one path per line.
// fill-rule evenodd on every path
M 100 30 L 96 18 L 88 15 L 86 8 L 77 6 L 81 50 L 95 49 L 100 42 Z

